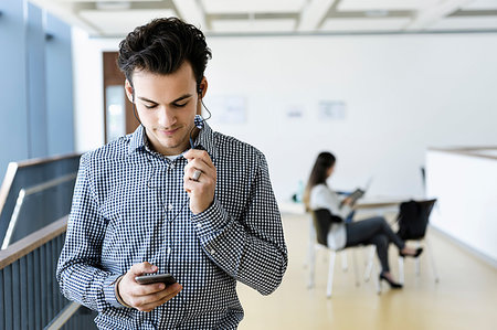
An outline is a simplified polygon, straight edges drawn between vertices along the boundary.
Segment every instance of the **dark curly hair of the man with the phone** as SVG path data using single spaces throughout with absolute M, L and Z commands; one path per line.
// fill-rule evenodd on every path
M 119 43 L 117 65 L 133 85 L 135 68 L 171 74 L 188 61 L 199 85 L 210 58 L 212 53 L 202 31 L 180 19 L 166 18 L 130 32 Z

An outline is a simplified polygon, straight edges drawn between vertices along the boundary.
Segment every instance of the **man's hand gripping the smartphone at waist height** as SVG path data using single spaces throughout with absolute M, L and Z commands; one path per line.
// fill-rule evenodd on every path
M 117 285 L 117 291 L 123 301 L 140 311 L 151 311 L 175 298 L 182 289 L 182 286 L 178 283 L 171 285 L 165 283 L 139 284 L 136 280 L 138 276 L 152 274 L 157 270 L 157 266 L 147 262 L 133 265 Z

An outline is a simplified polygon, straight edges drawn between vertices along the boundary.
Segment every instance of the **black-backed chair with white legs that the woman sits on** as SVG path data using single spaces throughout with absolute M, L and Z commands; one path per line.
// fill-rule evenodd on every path
M 309 249 L 309 288 L 314 287 L 315 284 L 315 255 L 316 251 L 319 248 L 326 248 L 329 252 L 329 266 L 328 266 L 328 283 L 326 289 L 327 298 L 331 297 L 332 294 L 332 283 L 334 283 L 334 270 L 335 270 L 335 259 L 338 252 L 342 252 L 342 260 L 347 257 L 345 251 L 337 251 L 328 246 L 328 232 L 332 222 L 341 222 L 341 219 L 338 216 L 334 216 L 328 210 L 320 209 L 311 211 L 311 220 L 310 220 L 310 238 L 313 242 L 313 246 Z M 374 247 L 376 248 L 376 247 Z M 346 259 L 345 259 L 346 260 Z M 358 267 L 356 263 L 356 258 L 353 258 L 353 269 L 356 277 L 356 286 L 359 286 L 359 276 L 358 276 Z M 346 263 L 342 264 L 343 270 L 346 270 Z M 374 267 L 373 265 L 371 265 Z M 380 284 L 377 277 L 377 291 L 380 292 Z

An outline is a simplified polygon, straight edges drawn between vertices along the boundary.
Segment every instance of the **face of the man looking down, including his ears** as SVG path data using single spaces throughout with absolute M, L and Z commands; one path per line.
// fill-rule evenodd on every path
M 166 156 L 187 150 L 194 116 L 201 110 L 190 63 L 183 62 L 177 72 L 167 75 L 135 71 L 133 85 L 136 109 L 154 149 Z M 203 96 L 205 78 L 200 87 Z M 128 82 L 126 93 L 133 102 L 133 88 Z

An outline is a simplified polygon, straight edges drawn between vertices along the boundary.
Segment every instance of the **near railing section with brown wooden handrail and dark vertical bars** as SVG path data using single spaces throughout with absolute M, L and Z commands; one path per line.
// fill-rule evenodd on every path
M 0 251 L 0 329 L 95 329 L 55 279 L 67 216 Z

